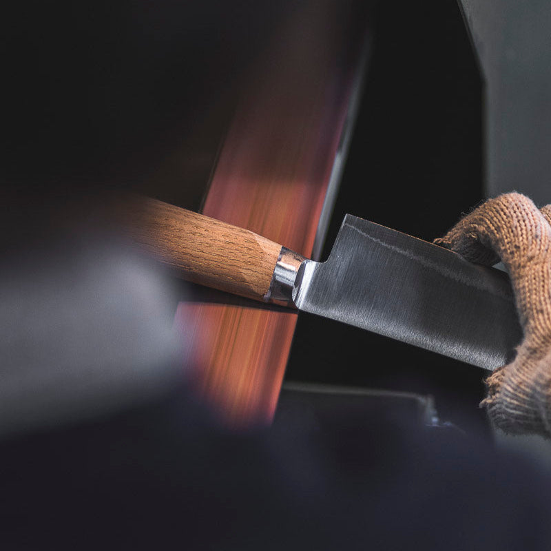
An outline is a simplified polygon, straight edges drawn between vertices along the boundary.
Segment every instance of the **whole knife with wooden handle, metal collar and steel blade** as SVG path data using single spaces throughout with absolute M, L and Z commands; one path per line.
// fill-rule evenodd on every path
M 347 214 L 315 262 L 247 229 L 150 198 L 125 229 L 180 278 L 361 327 L 492 370 L 522 337 L 508 275 Z

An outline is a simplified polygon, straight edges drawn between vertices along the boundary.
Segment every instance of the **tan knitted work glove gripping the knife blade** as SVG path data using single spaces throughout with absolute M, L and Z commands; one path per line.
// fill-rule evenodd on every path
M 540 210 L 526 196 L 504 194 L 435 243 L 477 264 L 505 264 L 523 340 L 514 360 L 486 380 L 481 406 L 506 433 L 551 437 L 551 205 Z

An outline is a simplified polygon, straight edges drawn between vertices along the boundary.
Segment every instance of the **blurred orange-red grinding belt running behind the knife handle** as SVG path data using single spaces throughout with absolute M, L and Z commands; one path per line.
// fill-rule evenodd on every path
M 202 212 L 310 257 L 355 69 L 350 4 L 309 1 L 253 67 Z M 297 313 L 182 302 L 198 391 L 232 428 L 269 424 Z

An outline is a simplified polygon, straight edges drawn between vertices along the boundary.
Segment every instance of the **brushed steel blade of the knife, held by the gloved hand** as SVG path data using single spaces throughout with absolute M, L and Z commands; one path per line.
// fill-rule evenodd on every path
M 508 276 L 349 214 L 326 262 L 304 262 L 300 310 L 494 369 L 521 339 Z

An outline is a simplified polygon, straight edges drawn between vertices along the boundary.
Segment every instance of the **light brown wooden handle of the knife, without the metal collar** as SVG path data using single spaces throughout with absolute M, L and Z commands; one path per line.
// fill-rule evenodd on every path
M 123 200 L 124 227 L 185 280 L 267 301 L 282 246 L 247 229 L 156 199 Z

